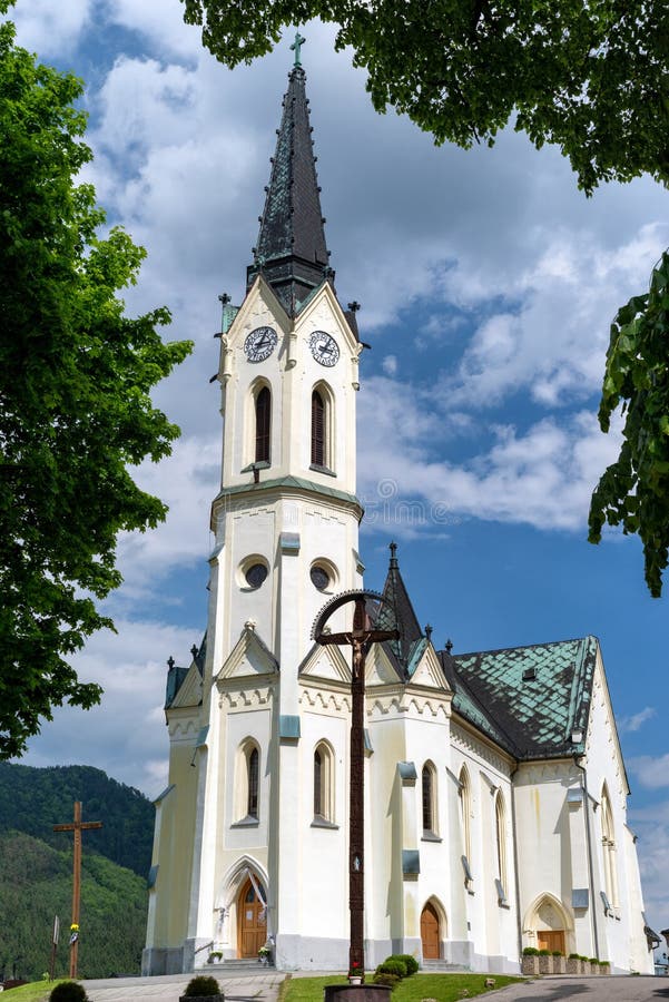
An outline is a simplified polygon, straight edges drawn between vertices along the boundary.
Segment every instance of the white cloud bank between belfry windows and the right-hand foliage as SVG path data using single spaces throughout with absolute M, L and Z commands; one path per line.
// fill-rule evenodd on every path
M 602 435 L 587 411 L 561 423 L 547 418 L 522 433 L 498 425 L 491 448 L 458 464 L 440 458 L 461 431 L 440 414 L 440 399 L 439 390 L 384 377 L 363 385 L 358 469 L 366 525 L 399 521 L 401 528 L 411 499 L 419 501 L 414 529 L 416 520 L 435 530 L 461 517 L 541 529 L 584 524 L 592 488 L 619 446 L 614 432 Z

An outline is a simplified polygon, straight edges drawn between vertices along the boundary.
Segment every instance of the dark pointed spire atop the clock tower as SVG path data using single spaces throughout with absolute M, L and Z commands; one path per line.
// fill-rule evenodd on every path
M 306 75 L 299 63 L 303 43 L 297 35 L 255 261 L 247 269 L 247 287 L 260 272 L 291 316 L 299 313 L 309 293 L 325 278 L 334 278 L 325 245 Z

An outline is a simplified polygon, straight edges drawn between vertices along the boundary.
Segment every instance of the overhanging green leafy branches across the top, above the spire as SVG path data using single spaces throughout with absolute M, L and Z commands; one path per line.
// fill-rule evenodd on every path
M 270 51 L 288 24 L 338 24 L 387 105 L 437 144 L 494 143 L 510 119 L 557 144 L 579 185 L 669 178 L 669 70 L 662 0 L 183 0 L 185 20 L 226 66 Z

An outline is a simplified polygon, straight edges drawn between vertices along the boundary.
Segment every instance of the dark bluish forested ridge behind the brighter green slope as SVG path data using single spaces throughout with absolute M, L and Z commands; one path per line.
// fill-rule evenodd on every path
M 23 832 L 71 852 L 71 833 L 53 832 L 53 825 L 72 821 L 75 800 L 81 800 L 82 821 L 102 822 L 101 828 L 83 833 L 83 854 L 106 856 L 146 878 L 154 806 L 144 794 L 91 766 L 37 769 L 0 762 L 0 834 Z

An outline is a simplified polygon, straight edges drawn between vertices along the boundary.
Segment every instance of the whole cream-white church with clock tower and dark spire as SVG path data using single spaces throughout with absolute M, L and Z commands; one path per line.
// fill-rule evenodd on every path
M 246 296 L 222 296 L 207 629 L 168 661 L 145 974 L 264 947 L 282 971 L 348 963 L 350 650 L 311 631 L 363 587 L 365 345 L 335 293 L 294 48 Z M 391 543 L 397 639 L 366 657 L 365 966 L 514 973 L 530 946 L 652 973 L 598 640 L 437 650 L 400 564 Z

